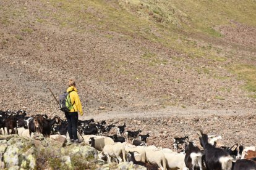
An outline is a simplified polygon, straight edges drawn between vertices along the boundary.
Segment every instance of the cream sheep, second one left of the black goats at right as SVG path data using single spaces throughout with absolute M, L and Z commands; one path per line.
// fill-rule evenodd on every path
M 145 147 L 146 160 L 148 163 L 157 164 L 162 170 L 166 170 L 166 158 L 161 150 L 154 150 L 151 147 Z

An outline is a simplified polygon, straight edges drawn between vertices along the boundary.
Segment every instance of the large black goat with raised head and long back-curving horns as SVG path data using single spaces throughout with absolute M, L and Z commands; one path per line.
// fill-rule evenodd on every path
M 223 149 L 215 148 L 213 145 L 209 144 L 207 134 L 203 134 L 200 129 L 198 129 L 198 131 L 200 144 L 205 152 L 205 164 L 207 169 L 231 169 L 233 160 L 232 156 Z

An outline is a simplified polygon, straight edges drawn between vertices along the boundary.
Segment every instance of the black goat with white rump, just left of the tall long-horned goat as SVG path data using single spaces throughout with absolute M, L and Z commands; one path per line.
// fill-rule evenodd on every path
M 185 153 L 185 164 L 189 170 L 203 169 L 203 153 L 198 147 L 195 147 L 192 142 L 186 142 Z

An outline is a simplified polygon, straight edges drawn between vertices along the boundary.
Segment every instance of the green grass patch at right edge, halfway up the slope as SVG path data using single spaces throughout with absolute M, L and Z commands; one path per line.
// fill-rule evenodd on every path
M 231 70 L 236 73 L 239 78 L 245 79 L 245 89 L 256 92 L 256 67 L 255 65 L 240 64 L 234 65 Z

